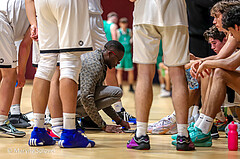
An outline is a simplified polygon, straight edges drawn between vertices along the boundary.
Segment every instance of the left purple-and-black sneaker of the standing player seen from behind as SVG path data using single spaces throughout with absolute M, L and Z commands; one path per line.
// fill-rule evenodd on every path
M 134 137 L 128 141 L 127 148 L 136 150 L 149 150 L 150 140 L 148 135 L 137 138 L 135 134 Z

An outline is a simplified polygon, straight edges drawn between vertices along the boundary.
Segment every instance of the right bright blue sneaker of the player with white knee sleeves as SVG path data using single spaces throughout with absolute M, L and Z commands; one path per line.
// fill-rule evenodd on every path
M 83 136 L 82 130 L 63 129 L 61 138 L 58 141 L 58 146 L 64 147 L 64 148 L 74 148 L 74 147 L 86 148 L 86 147 L 94 147 L 95 142 Z

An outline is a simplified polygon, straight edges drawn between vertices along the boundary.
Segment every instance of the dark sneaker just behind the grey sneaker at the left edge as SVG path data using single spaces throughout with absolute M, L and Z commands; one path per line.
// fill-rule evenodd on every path
M 29 123 L 30 120 L 28 120 L 27 116 L 22 113 L 19 115 L 11 115 L 11 113 L 9 113 L 8 120 L 11 122 L 12 126 L 16 128 L 27 128 L 31 126 Z

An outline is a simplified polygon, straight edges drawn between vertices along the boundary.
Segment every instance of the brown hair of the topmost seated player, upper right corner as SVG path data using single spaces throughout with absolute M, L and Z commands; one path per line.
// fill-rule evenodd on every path
M 235 5 L 239 5 L 239 4 L 240 4 L 239 0 L 223 0 L 223 1 L 220 1 L 212 7 L 211 16 L 216 15 L 217 12 L 220 12 L 221 14 L 223 14 L 229 8 L 231 8 Z

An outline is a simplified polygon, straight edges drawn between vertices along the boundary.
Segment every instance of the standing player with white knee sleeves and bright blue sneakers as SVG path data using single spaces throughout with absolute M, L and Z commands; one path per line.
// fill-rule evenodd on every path
M 39 36 L 40 46 L 40 61 L 32 93 L 35 127 L 28 144 L 30 146 L 55 144 L 43 124 L 50 81 L 60 53 L 63 131 L 58 145 L 60 147 L 93 147 L 95 143 L 82 136 L 75 127 L 77 83 L 81 68 L 80 56 L 92 50 L 87 0 L 35 0 L 38 25 L 34 1 L 26 0 L 26 6 L 32 29 L 31 36 L 33 39 L 38 39 Z

